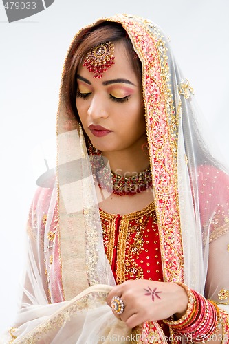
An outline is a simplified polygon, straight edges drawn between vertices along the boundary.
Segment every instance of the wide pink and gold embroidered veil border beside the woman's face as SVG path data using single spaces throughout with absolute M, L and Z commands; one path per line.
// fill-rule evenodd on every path
M 146 107 L 146 129 L 156 195 L 155 208 L 164 281 L 183 281 L 184 259 L 176 167 L 179 113 L 175 113 L 173 105 L 166 41 L 150 21 L 135 18 L 133 22 L 130 17 L 121 14 L 106 20 L 122 23 L 144 64 L 142 84 Z M 162 150 L 165 156 L 161 153 Z M 176 240 L 167 243 L 164 239 L 165 233 L 170 233 Z

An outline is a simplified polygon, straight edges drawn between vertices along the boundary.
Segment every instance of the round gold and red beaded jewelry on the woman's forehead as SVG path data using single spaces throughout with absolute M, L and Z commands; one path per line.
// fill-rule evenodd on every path
M 114 65 L 113 43 L 106 42 L 92 47 L 86 54 L 83 67 L 94 73 L 94 78 L 102 78 L 102 73 Z

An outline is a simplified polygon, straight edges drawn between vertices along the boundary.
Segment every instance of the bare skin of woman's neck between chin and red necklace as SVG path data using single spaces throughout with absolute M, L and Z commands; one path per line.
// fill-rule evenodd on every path
M 109 160 L 109 165 L 113 173 L 119 175 L 135 175 L 149 167 L 149 157 L 147 150 L 136 150 L 132 147 L 123 151 L 103 152 L 102 155 Z

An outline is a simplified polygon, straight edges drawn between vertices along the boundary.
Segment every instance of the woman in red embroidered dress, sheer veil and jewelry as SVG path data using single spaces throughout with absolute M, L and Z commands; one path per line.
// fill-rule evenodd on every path
M 195 111 L 157 25 L 118 15 L 76 34 L 8 341 L 229 343 L 229 178 Z

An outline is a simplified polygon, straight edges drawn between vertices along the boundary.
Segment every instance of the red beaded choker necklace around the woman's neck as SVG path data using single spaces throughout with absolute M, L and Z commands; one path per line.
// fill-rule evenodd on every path
M 94 179 L 98 182 L 98 186 L 100 189 L 106 189 L 109 193 L 119 196 L 132 196 L 152 186 L 152 173 L 149 167 L 140 173 L 126 177 L 113 173 L 105 165 L 102 156 L 90 156 L 90 161 Z

